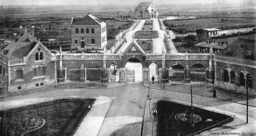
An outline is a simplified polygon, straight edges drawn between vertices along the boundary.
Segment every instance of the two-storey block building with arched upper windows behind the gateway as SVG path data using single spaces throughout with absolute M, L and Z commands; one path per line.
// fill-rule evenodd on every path
M 77 49 L 103 49 L 107 44 L 106 23 L 96 17 L 72 18 L 71 47 Z

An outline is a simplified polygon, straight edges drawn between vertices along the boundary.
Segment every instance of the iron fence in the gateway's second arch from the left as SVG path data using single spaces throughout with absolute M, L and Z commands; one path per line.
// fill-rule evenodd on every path
M 86 69 L 86 81 L 97 82 L 102 76 L 100 69 Z

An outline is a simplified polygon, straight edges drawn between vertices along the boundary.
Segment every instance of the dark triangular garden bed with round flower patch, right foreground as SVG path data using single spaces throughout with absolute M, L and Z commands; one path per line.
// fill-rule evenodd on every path
M 190 106 L 182 105 L 175 102 L 157 102 L 158 135 L 184 136 L 192 134 L 193 130 L 191 127 L 190 109 Z M 196 107 L 193 107 L 193 109 L 194 132 L 203 130 L 226 119 L 228 119 L 228 121 L 220 123 L 220 125 L 226 124 L 234 120 L 233 117 L 228 115 L 199 109 Z M 215 127 L 218 127 L 218 125 Z

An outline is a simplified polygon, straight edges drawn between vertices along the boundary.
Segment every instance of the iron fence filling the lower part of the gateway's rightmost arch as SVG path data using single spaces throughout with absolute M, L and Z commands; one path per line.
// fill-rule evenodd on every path
M 191 82 L 204 83 L 205 82 L 205 71 L 190 71 L 190 80 Z

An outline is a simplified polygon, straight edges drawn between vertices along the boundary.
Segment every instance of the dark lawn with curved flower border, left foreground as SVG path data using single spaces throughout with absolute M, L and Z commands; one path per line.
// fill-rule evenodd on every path
M 0 135 L 71 135 L 95 99 L 60 99 L 30 106 L 4 110 Z

